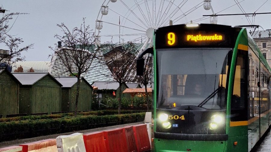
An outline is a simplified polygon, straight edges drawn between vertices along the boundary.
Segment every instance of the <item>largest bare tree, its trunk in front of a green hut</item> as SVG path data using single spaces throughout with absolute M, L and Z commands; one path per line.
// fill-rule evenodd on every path
M 55 35 L 59 41 L 64 44 L 64 47 L 59 47 L 54 50 L 55 64 L 62 68 L 61 72 L 69 73 L 77 77 L 75 112 L 77 115 L 78 98 L 80 92 L 80 77 L 83 73 L 92 70 L 95 58 L 99 56 L 97 53 L 100 49 L 95 48 L 95 33 L 92 32 L 89 25 L 85 24 L 85 18 L 81 26 L 73 28 L 71 31 L 64 23 L 57 24 L 63 32 L 63 35 Z

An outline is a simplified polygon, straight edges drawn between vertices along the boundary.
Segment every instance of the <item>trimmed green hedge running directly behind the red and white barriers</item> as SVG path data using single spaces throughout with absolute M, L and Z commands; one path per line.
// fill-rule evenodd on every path
M 56 119 L 20 120 L 0 123 L 0 142 L 50 134 L 73 132 L 125 123 L 141 122 L 145 112 L 116 115 L 81 115 Z

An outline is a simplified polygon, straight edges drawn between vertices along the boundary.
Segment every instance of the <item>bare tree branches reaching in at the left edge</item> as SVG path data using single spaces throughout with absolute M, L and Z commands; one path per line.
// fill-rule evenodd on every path
M 0 7 L 0 10 L 1 9 L 2 8 Z M 1 12 L 3 13 L 5 11 Z M 0 70 L 7 68 L 14 62 L 23 61 L 25 57 L 21 56 L 21 53 L 33 47 L 33 44 L 20 47 L 20 44 L 23 43 L 23 39 L 13 37 L 13 35 L 9 34 L 9 31 L 13 27 L 18 15 L 21 14 L 26 13 L 8 13 L 4 14 L 0 19 L 0 43 L 4 44 L 8 48 L 8 50 L 5 50 L 5 53 L 0 53 Z M 16 17 L 15 21 L 13 21 L 14 17 Z M 10 23 L 11 21 L 13 21 L 13 23 Z

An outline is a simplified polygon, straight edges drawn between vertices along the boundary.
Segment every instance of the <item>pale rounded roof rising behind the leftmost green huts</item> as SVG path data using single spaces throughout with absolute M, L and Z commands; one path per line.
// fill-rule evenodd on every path
M 23 72 L 28 72 L 32 67 L 34 72 L 48 72 L 50 61 L 18 61 L 12 64 L 12 72 L 18 67 L 23 67 Z

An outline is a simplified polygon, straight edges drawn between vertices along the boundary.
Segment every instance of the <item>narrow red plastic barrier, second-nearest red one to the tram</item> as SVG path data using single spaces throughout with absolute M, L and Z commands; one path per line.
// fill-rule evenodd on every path
M 136 139 L 134 136 L 133 126 L 123 127 L 123 135 L 126 138 L 128 152 L 137 152 Z

